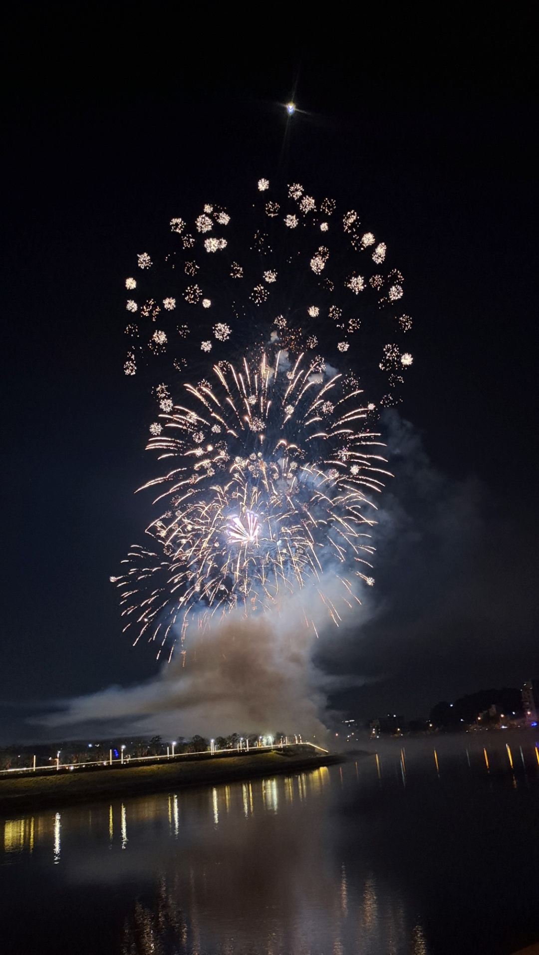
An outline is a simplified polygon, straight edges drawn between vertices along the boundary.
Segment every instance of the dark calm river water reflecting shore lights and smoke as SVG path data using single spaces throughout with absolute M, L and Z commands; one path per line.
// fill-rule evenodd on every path
M 0 952 L 508 955 L 539 939 L 517 735 L 2 818 Z

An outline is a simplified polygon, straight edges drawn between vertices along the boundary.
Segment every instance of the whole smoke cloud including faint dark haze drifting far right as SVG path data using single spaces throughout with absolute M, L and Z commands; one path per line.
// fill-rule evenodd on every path
M 51 701 L 33 716 L 32 732 L 300 732 L 318 741 L 342 718 L 335 711 L 414 717 L 440 699 L 503 682 L 518 686 L 536 672 L 537 563 L 529 561 L 527 541 L 519 546 L 515 522 L 493 507 L 477 479 L 438 471 L 399 414 L 387 413 L 382 426 L 396 477 L 376 501 L 376 585 L 357 590 L 361 606 L 351 601 L 338 629 L 315 588 L 306 588 L 280 615 L 230 615 L 205 634 L 193 627 L 184 668 L 179 654 L 137 686 Z M 340 612 L 330 568 L 322 581 Z M 302 604 L 309 619 L 318 607 L 319 640 L 305 626 Z

